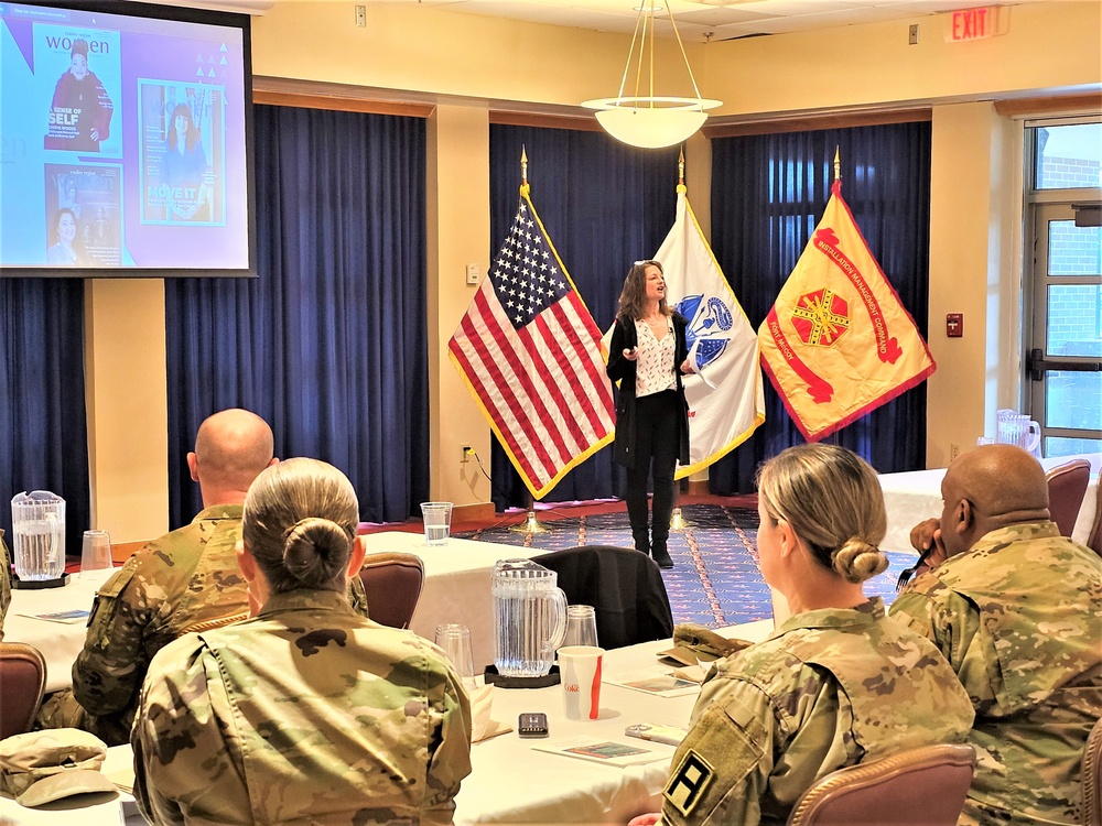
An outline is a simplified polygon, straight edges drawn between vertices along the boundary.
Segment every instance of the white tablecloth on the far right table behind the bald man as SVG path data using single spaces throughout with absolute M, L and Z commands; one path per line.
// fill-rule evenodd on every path
M 1071 536 L 1077 542 L 1087 543 L 1091 525 L 1094 524 L 1094 511 L 1098 508 L 1099 470 L 1102 468 L 1102 454 L 1080 454 L 1078 456 L 1060 456 L 1041 459 L 1045 470 L 1065 465 L 1072 459 L 1087 459 L 1091 463 L 1091 481 L 1083 497 L 1079 518 Z M 907 474 L 880 474 L 880 488 L 884 490 L 884 504 L 888 512 L 888 532 L 880 543 L 885 551 L 914 553 L 910 546 L 910 529 L 927 519 L 941 517 L 941 480 L 946 468 L 932 470 L 914 470 Z

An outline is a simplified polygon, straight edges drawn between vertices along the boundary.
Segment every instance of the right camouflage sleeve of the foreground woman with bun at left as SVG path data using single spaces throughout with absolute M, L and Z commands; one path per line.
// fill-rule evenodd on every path
M 430 688 L 434 719 L 429 741 L 425 807 L 435 811 L 435 817 L 443 816 L 442 822 L 451 823 L 460 782 L 471 773 L 471 700 L 458 674 L 443 652 L 439 654 L 442 662 L 435 667 L 443 672 L 443 680 L 437 689 Z M 431 661 L 428 667 L 433 667 Z

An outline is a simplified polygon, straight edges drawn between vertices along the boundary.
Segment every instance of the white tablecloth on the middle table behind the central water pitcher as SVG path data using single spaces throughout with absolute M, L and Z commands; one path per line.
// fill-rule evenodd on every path
M 436 626 L 445 622 L 468 626 L 471 653 L 477 672 L 494 662 L 494 600 L 490 595 L 494 564 L 498 559 L 527 559 L 545 553 L 454 537 L 446 545 L 426 545 L 423 533 L 401 531 L 371 533 L 364 539 L 369 554 L 401 551 L 421 557 L 424 587 L 410 630 L 433 640 Z

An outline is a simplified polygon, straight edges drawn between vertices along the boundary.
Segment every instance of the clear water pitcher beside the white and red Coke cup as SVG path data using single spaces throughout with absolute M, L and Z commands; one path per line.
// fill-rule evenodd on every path
M 494 565 L 494 665 L 510 677 L 541 677 L 566 634 L 559 575 L 531 559 Z

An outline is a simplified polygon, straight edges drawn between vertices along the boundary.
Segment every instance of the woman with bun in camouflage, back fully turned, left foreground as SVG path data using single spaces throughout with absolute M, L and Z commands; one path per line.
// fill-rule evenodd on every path
M 451 823 L 471 709 L 443 653 L 355 613 L 358 506 L 314 459 L 266 470 L 245 503 L 246 622 L 153 660 L 134 794 L 156 824 Z

